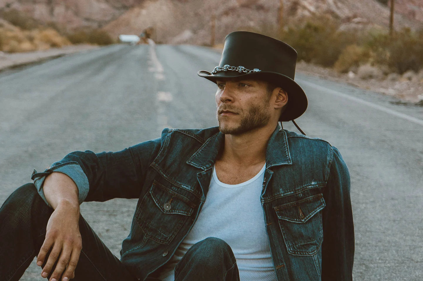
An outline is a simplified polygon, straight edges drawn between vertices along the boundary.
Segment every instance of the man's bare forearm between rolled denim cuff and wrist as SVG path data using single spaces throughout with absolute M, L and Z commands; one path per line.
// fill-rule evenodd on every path
M 43 191 L 53 209 L 65 202 L 79 207 L 77 185 L 66 174 L 52 172 L 44 180 Z

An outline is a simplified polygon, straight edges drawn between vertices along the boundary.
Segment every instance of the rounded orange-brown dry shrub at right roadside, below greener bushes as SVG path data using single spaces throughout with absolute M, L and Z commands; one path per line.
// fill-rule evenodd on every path
M 348 45 L 342 50 L 333 67 L 336 71 L 346 73 L 353 67 L 360 66 L 361 63 L 371 61 L 371 51 L 356 44 Z

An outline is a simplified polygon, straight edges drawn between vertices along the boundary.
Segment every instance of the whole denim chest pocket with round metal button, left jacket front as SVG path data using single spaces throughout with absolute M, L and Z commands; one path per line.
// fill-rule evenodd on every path
M 154 180 L 135 216 L 148 238 L 169 244 L 192 215 L 194 207 L 190 199 Z

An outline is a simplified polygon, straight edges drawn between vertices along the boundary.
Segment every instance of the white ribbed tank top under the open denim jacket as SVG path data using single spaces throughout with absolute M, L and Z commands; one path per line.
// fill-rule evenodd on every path
M 220 182 L 213 169 L 206 202 L 194 226 L 164 265 L 161 280 L 173 281 L 182 256 L 207 237 L 220 238 L 231 246 L 241 281 L 277 280 L 260 202 L 265 169 L 266 164 L 250 180 L 233 185 Z

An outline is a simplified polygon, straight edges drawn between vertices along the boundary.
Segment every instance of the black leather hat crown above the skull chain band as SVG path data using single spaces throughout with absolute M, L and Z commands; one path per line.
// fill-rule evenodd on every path
M 271 71 L 294 79 L 297 51 L 275 38 L 248 31 L 226 35 L 219 66 L 243 66 Z

